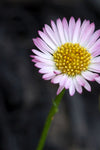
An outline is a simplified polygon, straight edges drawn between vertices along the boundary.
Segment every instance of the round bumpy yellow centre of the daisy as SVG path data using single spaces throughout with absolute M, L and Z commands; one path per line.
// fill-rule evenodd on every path
M 91 54 L 78 43 L 65 43 L 53 54 L 56 68 L 68 76 L 76 76 L 88 69 Z

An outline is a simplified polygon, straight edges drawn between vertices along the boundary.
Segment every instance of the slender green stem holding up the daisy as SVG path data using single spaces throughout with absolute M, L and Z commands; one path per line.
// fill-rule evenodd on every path
M 51 122 L 53 120 L 54 115 L 58 112 L 58 107 L 59 107 L 60 101 L 64 95 L 64 92 L 65 92 L 65 89 L 63 89 L 62 92 L 59 95 L 57 95 L 55 97 L 55 99 L 53 100 L 53 105 L 52 105 L 50 112 L 48 114 L 48 117 L 46 119 L 43 131 L 42 131 L 42 135 L 41 135 L 41 138 L 40 138 L 40 141 L 39 141 L 39 144 L 38 144 L 36 150 L 42 150 L 44 147 L 45 140 L 46 140 Z

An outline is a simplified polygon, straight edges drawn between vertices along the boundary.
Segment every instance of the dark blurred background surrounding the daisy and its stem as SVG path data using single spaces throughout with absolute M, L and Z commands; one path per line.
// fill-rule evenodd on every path
M 50 20 L 71 16 L 100 28 L 100 0 L 0 0 L 0 150 L 35 150 L 57 85 L 31 62 L 32 38 Z M 44 150 L 100 150 L 100 85 L 66 91 Z

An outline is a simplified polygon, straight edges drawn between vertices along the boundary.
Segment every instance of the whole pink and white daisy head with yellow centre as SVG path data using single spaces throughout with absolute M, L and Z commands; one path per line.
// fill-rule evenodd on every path
M 82 87 L 91 91 L 88 81 L 100 83 L 100 30 L 94 23 L 71 17 L 45 24 L 40 37 L 33 39 L 38 50 L 31 55 L 44 80 L 59 84 L 57 95 L 65 88 L 69 94 L 82 93 Z

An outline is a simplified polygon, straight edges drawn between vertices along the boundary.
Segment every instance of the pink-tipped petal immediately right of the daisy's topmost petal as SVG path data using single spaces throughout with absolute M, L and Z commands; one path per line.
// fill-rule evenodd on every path
M 73 43 L 77 43 L 78 42 L 79 33 L 80 33 L 80 25 L 81 25 L 81 20 L 79 18 L 77 20 L 77 22 L 76 22 L 75 29 L 74 29 Z

